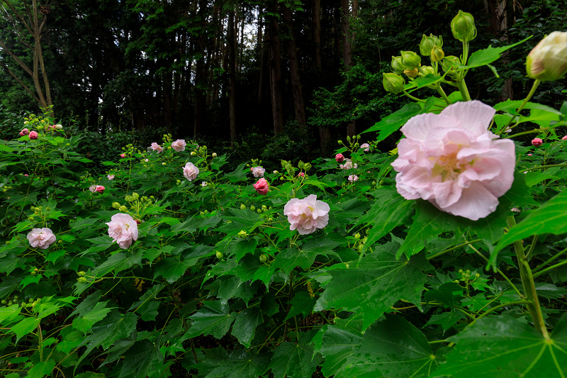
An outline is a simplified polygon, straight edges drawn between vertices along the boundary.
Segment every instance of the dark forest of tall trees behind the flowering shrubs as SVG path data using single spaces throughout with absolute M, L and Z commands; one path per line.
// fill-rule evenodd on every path
M 418 51 L 424 33 L 459 51 L 449 28 L 459 9 L 475 18 L 471 51 L 534 35 L 468 79 L 473 99 L 523 99 L 527 52 L 565 28 L 565 1 L 2 0 L 0 138 L 52 105 L 98 162 L 164 133 L 228 152 L 235 166 L 330 155 L 410 101 L 383 89 L 393 55 Z M 565 84 L 544 82 L 534 101 L 558 109 Z

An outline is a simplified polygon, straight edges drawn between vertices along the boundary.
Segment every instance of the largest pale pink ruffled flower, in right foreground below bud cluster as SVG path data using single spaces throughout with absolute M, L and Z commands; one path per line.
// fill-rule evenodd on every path
M 398 193 L 473 221 L 495 211 L 514 181 L 516 155 L 512 140 L 496 140 L 488 130 L 494 114 L 467 101 L 410 118 L 392 163 Z

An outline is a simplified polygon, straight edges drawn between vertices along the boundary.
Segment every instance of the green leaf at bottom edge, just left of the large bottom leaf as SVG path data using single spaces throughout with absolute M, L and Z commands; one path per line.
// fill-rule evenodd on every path
M 336 319 L 336 326 L 327 326 L 322 334 L 321 355 L 325 357 L 321 372 L 325 377 L 337 374 L 350 355 L 362 343 L 362 319 Z

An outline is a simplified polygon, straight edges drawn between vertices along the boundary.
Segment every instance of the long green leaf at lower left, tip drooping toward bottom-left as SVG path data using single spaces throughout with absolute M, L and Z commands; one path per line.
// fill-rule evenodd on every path
M 137 316 L 134 313 L 128 312 L 122 316 L 118 311 L 112 310 L 106 318 L 102 321 L 96 323 L 91 329 L 91 335 L 87 337 L 81 345 L 86 345 L 86 350 L 83 355 L 77 361 L 75 369 L 79 367 L 79 364 L 84 360 L 94 348 L 99 347 L 99 345 L 108 349 L 121 338 L 126 338 L 130 333 L 136 329 Z

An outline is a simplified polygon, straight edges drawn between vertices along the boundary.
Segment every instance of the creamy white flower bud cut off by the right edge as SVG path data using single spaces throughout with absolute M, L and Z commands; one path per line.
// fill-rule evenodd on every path
M 542 82 L 561 79 L 567 73 L 567 32 L 554 31 L 539 41 L 526 60 L 527 75 Z

